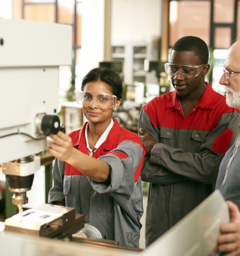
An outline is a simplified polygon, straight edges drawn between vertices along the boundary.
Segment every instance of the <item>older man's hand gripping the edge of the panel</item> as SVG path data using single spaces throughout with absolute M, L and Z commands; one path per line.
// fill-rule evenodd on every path
M 230 222 L 220 226 L 221 235 L 218 236 L 218 251 L 226 252 L 225 256 L 240 255 L 240 211 L 237 205 L 227 201 Z

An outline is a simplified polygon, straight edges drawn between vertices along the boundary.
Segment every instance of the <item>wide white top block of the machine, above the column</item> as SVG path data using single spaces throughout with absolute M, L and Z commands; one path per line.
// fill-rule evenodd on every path
M 72 63 L 72 27 L 0 19 L 0 67 L 62 66 Z

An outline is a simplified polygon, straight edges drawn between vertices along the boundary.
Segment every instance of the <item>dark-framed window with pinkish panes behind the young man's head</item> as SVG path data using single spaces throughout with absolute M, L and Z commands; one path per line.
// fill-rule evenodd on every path
M 227 49 L 240 37 L 239 6 L 240 0 L 169 0 L 168 47 L 180 37 L 202 38 L 210 51 L 207 80 L 219 92 L 223 87 L 218 83 L 222 75 L 219 62 L 223 63 Z

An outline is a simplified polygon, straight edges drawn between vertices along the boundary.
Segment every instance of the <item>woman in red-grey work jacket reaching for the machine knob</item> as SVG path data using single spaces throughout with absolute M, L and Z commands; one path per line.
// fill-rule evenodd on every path
M 48 203 L 74 207 L 103 238 L 139 247 L 145 148 L 137 134 L 112 119 L 121 103 L 120 77 L 95 68 L 85 75 L 81 90 L 76 101 L 88 122 L 69 135 L 50 135 L 55 142 L 48 151 L 56 160 Z

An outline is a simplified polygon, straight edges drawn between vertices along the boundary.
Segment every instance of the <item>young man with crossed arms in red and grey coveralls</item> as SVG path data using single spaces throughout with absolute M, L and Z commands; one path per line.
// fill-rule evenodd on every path
M 175 91 L 141 110 L 141 177 L 150 183 L 146 246 L 214 191 L 220 162 L 236 137 L 240 114 L 205 82 L 208 57 L 201 38 L 180 38 L 165 64 Z

